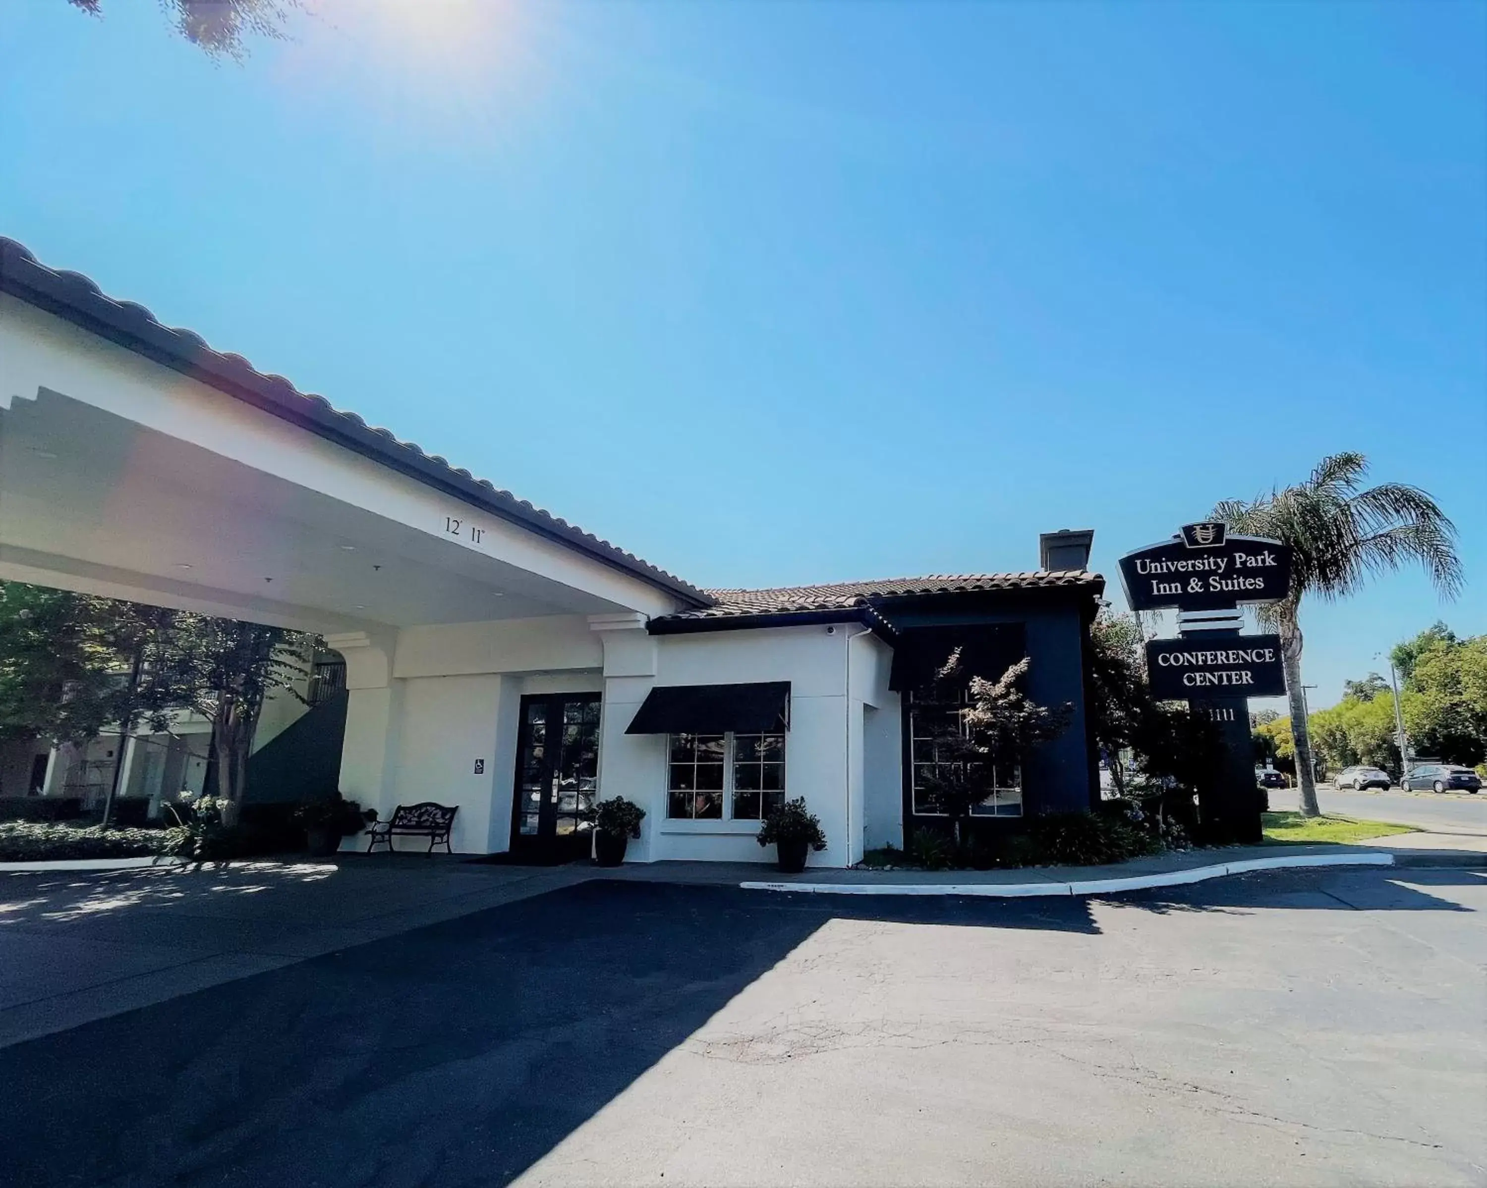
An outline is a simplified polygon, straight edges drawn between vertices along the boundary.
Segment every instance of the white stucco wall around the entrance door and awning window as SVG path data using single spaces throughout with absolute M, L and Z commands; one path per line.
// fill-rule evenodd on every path
M 892 650 L 855 624 L 651 636 L 644 620 L 540 620 L 406 627 L 354 645 L 341 785 L 384 816 L 397 804 L 459 804 L 454 849 L 510 845 L 523 694 L 602 693 L 599 794 L 645 809 L 630 861 L 772 862 L 754 821 L 666 818 L 666 739 L 626 735 L 656 685 L 790 681 L 785 794 L 821 818 L 816 865 L 849 865 L 897 840 L 898 696 Z M 476 773 L 476 760 L 485 770 Z M 416 842 L 409 845 L 418 845 Z

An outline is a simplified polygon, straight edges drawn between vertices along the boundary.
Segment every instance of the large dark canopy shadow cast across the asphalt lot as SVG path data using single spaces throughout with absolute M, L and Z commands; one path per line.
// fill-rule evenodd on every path
M 0 1050 L 0 1184 L 507 1184 L 840 917 L 1096 931 L 1071 898 L 583 883 Z

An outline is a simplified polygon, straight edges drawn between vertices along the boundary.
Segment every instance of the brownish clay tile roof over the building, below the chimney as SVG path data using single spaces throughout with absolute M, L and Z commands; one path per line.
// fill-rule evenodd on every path
M 781 586 L 769 590 L 705 590 L 714 605 L 668 616 L 668 620 L 736 619 L 755 614 L 791 614 L 876 607 L 900 598 L 972 590 L 1088 589 L 1099 595 L 1105 578 L 1084 569 L 1033 569 L 1020 574 L 929 574 L 886 577 L 874 581 L 836 581 L 825 586 Z

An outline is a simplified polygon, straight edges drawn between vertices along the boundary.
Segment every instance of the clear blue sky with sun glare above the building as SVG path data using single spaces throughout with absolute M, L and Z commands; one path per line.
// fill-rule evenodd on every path
M 699 584 L 1114 587 L 1350 448 L 1469 586 L 1315 703 L 1487 630 L 1487 4 L 308 3 L 0 6 L 0 233 Z

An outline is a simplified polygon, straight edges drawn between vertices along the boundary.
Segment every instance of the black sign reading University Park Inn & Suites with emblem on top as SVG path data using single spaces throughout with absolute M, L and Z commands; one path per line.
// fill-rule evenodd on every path
M 1291 549 L 1230 535 L 1222 523 L 1190 523 L 1182 535 L 1123 556 L 1120 575 L 1133 611 L 1277 602 L 1291 587 Z

